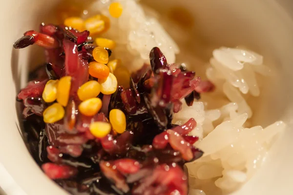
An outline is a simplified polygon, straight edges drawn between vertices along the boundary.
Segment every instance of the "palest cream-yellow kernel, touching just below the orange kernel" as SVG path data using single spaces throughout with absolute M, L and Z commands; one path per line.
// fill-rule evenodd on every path
M 105 95 L 113 94 L 117 89 L 117 78 L 109 73 L 109 76 L 106 79 L 98 79 L 98 82 L 101 85 L 101 92 Z

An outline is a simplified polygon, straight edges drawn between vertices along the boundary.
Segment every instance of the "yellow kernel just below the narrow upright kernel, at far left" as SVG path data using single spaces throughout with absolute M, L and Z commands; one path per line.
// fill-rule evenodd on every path
M 60 103 L 53 103 L 43 112 L 43 120 L 46 123 L 54 123 L 61 120 L 65 115 L 64 108 Z

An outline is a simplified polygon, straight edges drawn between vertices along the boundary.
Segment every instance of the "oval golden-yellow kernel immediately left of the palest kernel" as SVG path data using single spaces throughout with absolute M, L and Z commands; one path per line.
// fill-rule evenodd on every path
M 90 80 L 84 83 L 78 90 L 77 95 L 84 101 L 89 98 L 96 98 L 101 92 L 101 85 L 98 81 Z

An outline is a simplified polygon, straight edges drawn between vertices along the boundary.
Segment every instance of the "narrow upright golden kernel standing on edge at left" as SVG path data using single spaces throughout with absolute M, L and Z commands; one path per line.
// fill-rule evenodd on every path
M 70 76 L 65 76 L 60 78 L 58 87 L 57 87 L 57 101 L 64 107 L 68 103 L 70 87 L 71 87 Z

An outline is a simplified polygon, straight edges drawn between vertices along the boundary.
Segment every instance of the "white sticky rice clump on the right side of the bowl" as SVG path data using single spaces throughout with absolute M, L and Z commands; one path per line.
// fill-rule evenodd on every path
M 205 110 L 203 102 L 194 102 L 192 107 L 185 104 L 175 114 L 177 124 L 195 118 L 198 125 L 190 135 L 200 138 L 195 145 L 205 152 L 202 158 L 187 164 L 189 177 L 195 178 L 195 183 L 189 183 L 191 188 L 198 188 L 197 182 L 202 180 L 204 188 L 214 189 L 211 186 L 214 184 L 223 194 L 237 190 L 262 165 L 273 137 L 285 128 L 282 121 L 266 128 L 246 128 L 252 111 L 244 94 L 259 96 L 256 73 L 270 74 L 270 70 L 262 65 L 262 56 L 239 48 L 214 50 L 207 77 L 231 102 L 216 110 Z M 213 101 L 217 102 L 217 99 Z M 220 124 L 214 127 L 213 121 Z M 192 191 L 192 195 L 201 193 Z M 210 193 L 214 195 L 214 192 Z

